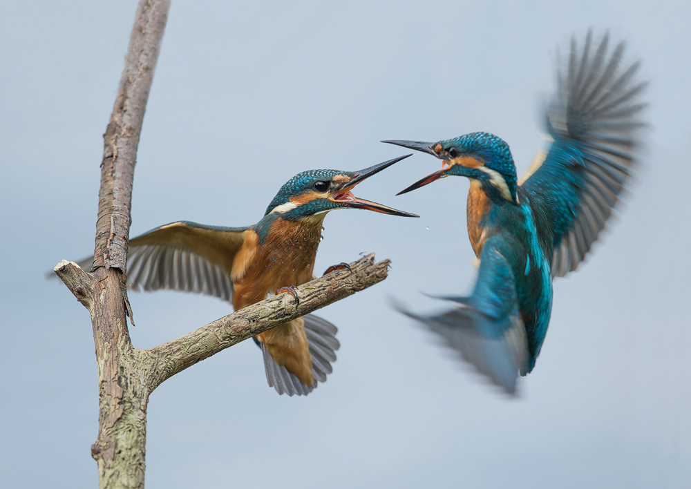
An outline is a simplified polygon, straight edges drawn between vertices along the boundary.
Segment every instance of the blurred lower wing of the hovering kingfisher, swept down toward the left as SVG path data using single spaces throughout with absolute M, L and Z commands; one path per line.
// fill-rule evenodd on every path
M 529 351 L 511 266 L 493 242 L 482 249 L 480 271 L 470 297 L 448 298 L 457 307 L 437 316 L 415 316 L 462 358 L 513 394 Z

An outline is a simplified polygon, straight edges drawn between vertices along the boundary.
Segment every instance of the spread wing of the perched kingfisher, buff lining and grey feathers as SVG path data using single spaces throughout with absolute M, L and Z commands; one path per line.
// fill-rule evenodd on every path
M 171 222 L 129 242 L 127 283 L 134 290 L 173 289 L 230 301 L 233 260 L 249 227 Z M 91 268 L 93 257 L 79 261 Z

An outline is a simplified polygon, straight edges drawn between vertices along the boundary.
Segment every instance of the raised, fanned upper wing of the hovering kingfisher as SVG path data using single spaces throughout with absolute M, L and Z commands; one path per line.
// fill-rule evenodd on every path
M 623 43 L 609 54 L 609 35 L 597 48 L 592 44 L 591 32 L 583 48 L 572 39 L 547 112 L 553 143 L 523 178 L 535 213 L 551 224 L 552 276 L 575 270 L 605 227 L 634 164 L 636 129 L 643 126 L 638 63 L 622 66 Z

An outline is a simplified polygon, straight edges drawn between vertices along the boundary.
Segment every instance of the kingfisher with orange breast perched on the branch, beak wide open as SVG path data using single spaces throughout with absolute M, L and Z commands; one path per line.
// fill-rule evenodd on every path
M 312 280 L 322 223 L 329 211 L 367 209 L 419 217 L 352 194 L 354 186 L 408 156 L 360 171 L 299 173 L 281 187 L 253 226 L 180 221 L 152 229 L 129 242 L 128 282 L 135 290 L 216 296 L 231 301 L 236 310 L 264 300 L 267 294 L 295 295 L 292 287 Z M 307 314 L 258 334 L 255 341 L 264 355 L 269 386 L 292 396 L 309 394 L 318 382 L 325 382 L 340 346 L 336 333 L 327 320 Z

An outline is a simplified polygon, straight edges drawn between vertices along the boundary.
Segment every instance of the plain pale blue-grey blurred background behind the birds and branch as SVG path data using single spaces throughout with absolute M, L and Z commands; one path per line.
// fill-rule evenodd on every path
M 97 485 L 88 312 L 44 274 L 93 251 L 102 133 L 135 0 L 0 3 L 0 485 Z M 691 3 L 183 2 L 144 119 L 132 235 L 174 220 L 243 226 L 306 169 L 404 154 L 386 139 L 489 131 L 522 174 L 545 147 L 557 47 L 609 29 L 650 79 L 643 164 L 585 264 L 554 285 L 536 369 L 509 399 L 407 318 L 475 280 L 467 180 L 394 197 L 422 153 L 358 187 L 422 215 L 341 211 L 316 271 L 375 251 L 389 278 L 319 311 L 329 381 L 267 387 L 247 341 L 151 395 L 146 483 L 204 488 L 691 486 Z M 136 347 L 225 314 L 214 298 L 131 294 Z

